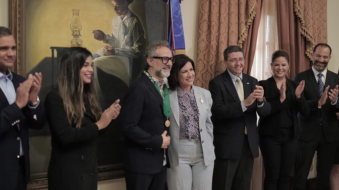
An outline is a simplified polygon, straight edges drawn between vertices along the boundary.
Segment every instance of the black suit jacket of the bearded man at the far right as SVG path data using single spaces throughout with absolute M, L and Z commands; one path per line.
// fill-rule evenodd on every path
M 338 141 L 339 129 L 335 111 L 336 107 L 339 105 L 339 100 L 336 105 L 331 105 L 331 101 L 327 99 L 321 109 L 318 109 L 320 93 L 312 68 L 297 74 L 294 80 L 296 83 L 299 83 L 301 80 L 305 80 L 303 94 L 310 107 L 310 112 L 308 114 L 305 115 L 298 113 L 300 128 L 299 139 L 305 141 L 312 140 L 319 132 L 319 125 L 322 123 L 322 130 L 327 141 Z M 327 70 L 325 87 L 329 85 L 329 89 L 333 89 L 337 84 L 339 84 L 339 76 Z

